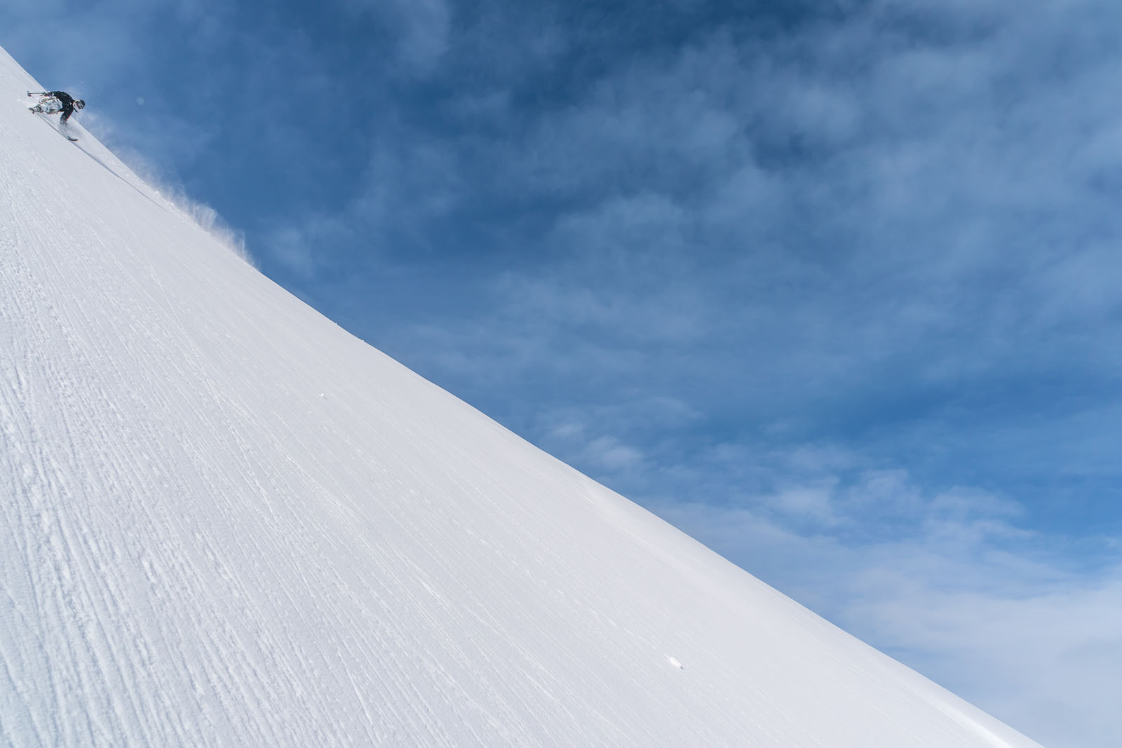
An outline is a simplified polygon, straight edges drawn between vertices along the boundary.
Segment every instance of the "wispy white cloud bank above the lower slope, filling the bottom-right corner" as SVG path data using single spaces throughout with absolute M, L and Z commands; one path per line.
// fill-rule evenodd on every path
M 1023 507 L 1005 497 L 928 495 L 901 471 L 873 471 L 848 487 L 819 479 L 728 507 L 654 508 L 1043 745 L 1118 738 L 1122 567 L 1073 566 L 1056 538 L 1011 524 Z

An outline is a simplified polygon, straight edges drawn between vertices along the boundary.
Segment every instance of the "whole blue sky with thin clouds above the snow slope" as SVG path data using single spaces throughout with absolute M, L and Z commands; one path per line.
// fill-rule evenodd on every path
M 1122 6 L 15 0 L 348 330 L 1049 746 L 1122 741 Z

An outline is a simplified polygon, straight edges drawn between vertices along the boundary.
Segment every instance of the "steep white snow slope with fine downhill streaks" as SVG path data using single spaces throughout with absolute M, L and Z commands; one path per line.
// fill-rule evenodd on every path
M 349 335 L 40 87 L 0 50 L 0 745 L 1036 745 Z

